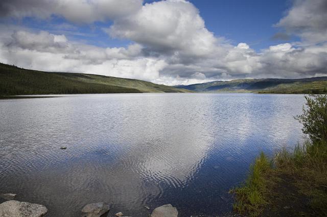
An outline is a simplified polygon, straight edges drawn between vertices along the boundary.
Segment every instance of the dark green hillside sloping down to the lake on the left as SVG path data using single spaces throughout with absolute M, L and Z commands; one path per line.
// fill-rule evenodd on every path
M 0 95 L 190 92 L 143 80 L 43 72 L 0 63 Z

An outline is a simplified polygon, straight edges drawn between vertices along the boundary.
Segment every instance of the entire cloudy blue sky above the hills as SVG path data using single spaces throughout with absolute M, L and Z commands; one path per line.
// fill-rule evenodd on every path
M 327 0 L 2 0 L 0 62 L 165 85 L 327 76 Z

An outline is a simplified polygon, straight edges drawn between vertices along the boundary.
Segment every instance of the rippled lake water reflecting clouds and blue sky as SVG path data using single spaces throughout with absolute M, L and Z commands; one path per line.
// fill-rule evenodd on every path
M 228 189 L 260 151 L 303 140 L 302 95 L 96 94 L 0 100 L 0 193 L 80 216 L 231 211 Z M 66 146 L 66 150 L 61 150 Z M 148 211 L 143 206 L 150 206 Z

